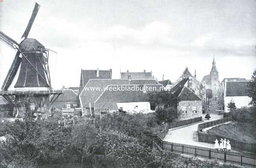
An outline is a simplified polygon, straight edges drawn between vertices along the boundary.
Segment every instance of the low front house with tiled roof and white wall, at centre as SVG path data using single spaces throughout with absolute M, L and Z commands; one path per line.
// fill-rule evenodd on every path
M 120 85 L 109 85 L 109 88 L 120 87 Z M 125 91 L 105 90 L 94 102 L 94 110 L 99 112 L 112 112 L 118 109 L 128 113 L 149 113 L 150 109 L 148 93 L 160 90 L 162 85 L 121 85 Z M 140 88 L 135 90 L 133 88 Z M 147 90 L 147 88 L 152 88 Z M 156 88 L 154 90 L 153 88 Z

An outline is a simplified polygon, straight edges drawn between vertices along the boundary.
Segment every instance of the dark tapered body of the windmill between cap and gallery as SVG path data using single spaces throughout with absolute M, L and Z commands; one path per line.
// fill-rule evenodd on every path
M 45 82 L 46 75 L 44 73 L 44 67 L 41 65 L 38 57 L 35 56 L 33 52 L 24 52 L 26 58 L 30 61 L 30 63 L 37 69 L 37 71 L 42 75 L 42 78 L 33 68 L 30 63 L 26 60 L 25 57 L 21 58 L 20 63 L 20 73 L 17 79 L 17 83 L 15 84 L 15 88 L 23 88 L 23 87 L 49 87 Z M 38 54 L 40 58 L 42 58 L 42 54 Z M 42 60 L 41 60 L 42 62 Z

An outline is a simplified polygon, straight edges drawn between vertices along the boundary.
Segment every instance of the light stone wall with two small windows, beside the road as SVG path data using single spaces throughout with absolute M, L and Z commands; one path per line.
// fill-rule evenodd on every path
M 196 106 L 197 113 L 192 113 L 192 107 Z M 186 107 L 187 113 L 182 113 L 182 108 Z M 188 120 L 195 117 L 201 117 L 202 116 L 202 101 L 201 100 L 186 100 L 186 101 L 180 101 L 177 106 L 177 114 L 179 120 Z

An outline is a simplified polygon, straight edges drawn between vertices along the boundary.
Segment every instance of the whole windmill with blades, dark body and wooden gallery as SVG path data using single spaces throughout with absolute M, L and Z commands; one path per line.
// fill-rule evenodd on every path
M 22 101 L 26 95 L 33 94 L 33 96 L 40 98 L 40 106 L 43 107 L 45 102 L 49 100 L 50 104 L 53 103 L 62 93 L 60 90 L 52 90 L 48 62 L 50 50 L 38 40 L 28 38 L 39 8 L 40 5 L 35 3 L 35 8 L 20 43 L 0 31 L 0 41 L 17 50 L 3 82 L 3 91 L 0 91 L 0 95 L 14 107 L 14 111 L 16 109 L 16 116 L 20 110 L 19 104 L 23 105 Z M 15 78 L 17 78 L 14 85 L 15 90 L 9 90 Z

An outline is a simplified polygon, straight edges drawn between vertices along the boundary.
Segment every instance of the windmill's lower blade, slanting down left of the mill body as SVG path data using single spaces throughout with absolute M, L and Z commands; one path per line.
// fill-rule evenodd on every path
M 18 71 L 18 68 L 20 66 L 20 62 L 21 62 L 21 58 L 19 57 L 20 55 L 20 52 L 17 51 L 16 55 L 15 55 L 15 58 L 12 62 L 12 65 L 8 71 L 8 74 L 6 75 L 6 78 L 3 82 L 3 85 L 2 85 L 2 89 L 4 91 L 7 91 L 7 89 L 10 87 L 10 85 L 12 84 L 12 81 L 15 77 L 15 75 L 17 74 L 17 71 Z

